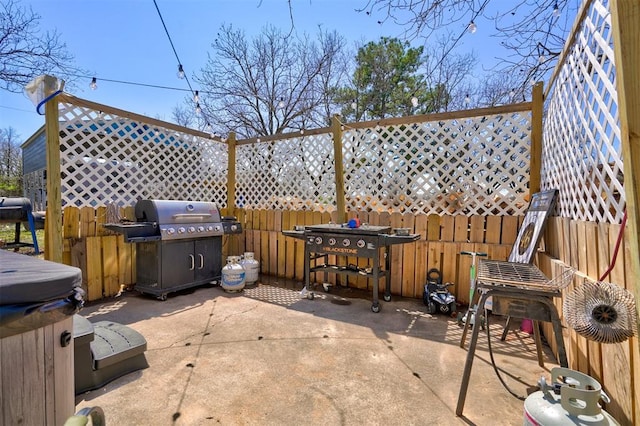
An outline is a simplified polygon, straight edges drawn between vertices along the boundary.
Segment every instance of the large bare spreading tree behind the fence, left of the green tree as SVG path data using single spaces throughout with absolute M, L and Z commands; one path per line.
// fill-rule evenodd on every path
M 244 32 L 223 25 L 196 77 L 203 88 L 201 120 L 242 137 L 326 125 L 331 109 L 326 88 L 342 72 L 345 43 L 322 31 L 318 40 L 266 27 L 249 41 Z

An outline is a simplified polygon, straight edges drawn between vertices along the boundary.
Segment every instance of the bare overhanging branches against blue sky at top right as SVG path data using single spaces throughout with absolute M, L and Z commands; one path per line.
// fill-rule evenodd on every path
M 357 9 L 404 27 L 410 39 L 428 39 L 438 30 L 458 24 L 472 30 L 480 19 L 493 22 L 493 36 L 510 53 L 492 70 L 518 76 L 518 91 L 526 92 L 532 80 L 542 79 L 554 66 L 571 29 L 580 0 L 363 0 Z M 489 6 L 495 6 L 489 9 Z M 501 9 L 500 9 L 501 8 Z M 489 12 L 497 10 L 497 12 Z M 449 55 L 453 49 L 443 52 Z

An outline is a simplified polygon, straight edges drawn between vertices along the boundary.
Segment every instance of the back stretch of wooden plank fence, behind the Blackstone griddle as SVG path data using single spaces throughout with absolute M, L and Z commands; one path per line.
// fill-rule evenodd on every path
M 242 222 L 242 235 L 231 236 L 226 250 L 230 254 L 245 251 L 255 253 L 261 272 L 297 281 L 304 279 L 304 241 L 285 237 L 282 230 L 296 225 L 315 225 L 336 222 L 337 213 L 289 210 L 236 210 Z M 462 303 L 469 299 L 469 267 L 471 259 L 461 251 L 483 251 L 492 259 L 508 257 L 515 241 L 522 217 L 518 216 L 439 216 L 424 214 L 349 212 L 348 218 L 358 217 L 362 223 L 409 228 L 421 236 L 419 241 L 392 248 L 391 292 L 404 297 L 422 297 L 427 271 L 438 268 L 445 281 L 456 283 L 453 292 Z M 330 257 L 331 259 L 331 257 Z M 368 259 L 342 258 L 346 264 L 360 267 Z M 336 259 L 330 260 L 334 263 Z M 323 274 L 311 276 L 321 283 Z M 330 283 L 367 289 L 366 277 L 344 277 L 329 274 Z M 341 281 L 340 281 L 341 280 Z

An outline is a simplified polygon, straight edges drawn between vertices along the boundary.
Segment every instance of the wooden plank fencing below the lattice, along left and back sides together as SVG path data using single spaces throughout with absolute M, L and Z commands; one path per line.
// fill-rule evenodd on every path
M 222 211 L 223 214 L 226 212 Z M 335 222 L 336 213 L 282 210 L 236 210 L 243 225 L 242 234 L 223 237 L 223 257 L 254 252 L 261 273 L 302 281 L 304 279 L 304 241 L 285 237 L 283 229 L 295 225 Z M 133 208 L 121 209 L 121 217 L 135 219 Z M 349 218 L 355 217 L 354 212 Z M 402 213 L 357 214 L 363 223 L 410 228 L 421 235 L 414 243 L 394 246 L 391 258 L 391 290 L 394 295 L 422 297 L 427 271 L 438 268 L 445 281 L 456 283 L 453 289 L 462 303 L 469 299 L 471 259 L 461 251 L 483 251 L 490 258 L 504 260 L 515 241 L 521 217 L 516 216 L 438 216 Z M 87 300 L 118 294 L 136 280 L 136 247 L 121 235 L 105 229 L 107 208 L 66 207 L 63 213 L 64 263 L 82 269 Z M 347 257 L 347 263 L 367 266 L 367 259 Z M 363 264 L 364 262 L 364 264 Z M 340 280 L 342 281 L 336 281 Z M 324 281 L 317 274 L 312 280 Z M 368 288 L 365 277 L 328 276 L 355 288 Z

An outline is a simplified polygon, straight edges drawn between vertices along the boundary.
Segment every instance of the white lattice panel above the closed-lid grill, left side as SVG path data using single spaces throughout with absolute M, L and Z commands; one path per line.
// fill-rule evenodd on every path
M 60 104 L 63 205 L 138 199 L 226 205 L 227 146 L 163 127 Z

